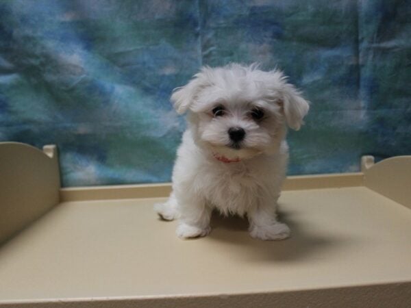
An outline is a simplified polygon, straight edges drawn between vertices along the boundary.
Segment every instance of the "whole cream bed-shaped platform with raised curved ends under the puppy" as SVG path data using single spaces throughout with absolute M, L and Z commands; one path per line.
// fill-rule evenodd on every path
M 0 307 L 411 307 L 411 156 L 362 167 L 288 177 L 288 240 L 183 241 L 169 184 L 60 188 L 54 146 L 0 143 Z

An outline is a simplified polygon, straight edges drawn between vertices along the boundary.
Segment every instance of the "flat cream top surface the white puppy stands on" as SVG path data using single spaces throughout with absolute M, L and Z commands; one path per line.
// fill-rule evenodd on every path
M 364 187 L 284 192 L 292 238 L 214 215 L 206 238 L 158 220 L 164 198 L 66 202 L 0 249 L 0 300 L 232 294 L 411 281 L 411 211 Z

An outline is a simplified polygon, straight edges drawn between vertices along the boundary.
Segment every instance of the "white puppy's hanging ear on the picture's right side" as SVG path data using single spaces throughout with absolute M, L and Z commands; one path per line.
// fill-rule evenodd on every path
M 310 105 L 301 97 L 299 91 L 291 84 L 285 84 L 282 90 L 282 105 L 288 127 L 298 131 L 303 125 L 303 118 L 308 113 Z

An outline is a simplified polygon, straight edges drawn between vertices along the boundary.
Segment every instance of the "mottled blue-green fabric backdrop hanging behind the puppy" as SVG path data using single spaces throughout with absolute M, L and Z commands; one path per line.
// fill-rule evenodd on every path
M 279 66 L 312 102 L 290 174 L 411 154 L 410 1 L 0 2 L 0 140 L 58 144 L 62 183 L 169 181 L 169 103 L 203 64 Z M 0 157 L 1 159 L 1 157 Z

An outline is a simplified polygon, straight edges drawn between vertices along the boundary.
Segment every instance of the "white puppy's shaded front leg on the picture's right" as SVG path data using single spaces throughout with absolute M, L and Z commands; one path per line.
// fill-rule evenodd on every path
M 262 195 L 258 205 L 251 209 L 249 218 L 249 233 L 260 240 L 284 240 L 290 236 L 290 228 L 277 220 L 277 198 Z

